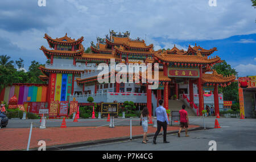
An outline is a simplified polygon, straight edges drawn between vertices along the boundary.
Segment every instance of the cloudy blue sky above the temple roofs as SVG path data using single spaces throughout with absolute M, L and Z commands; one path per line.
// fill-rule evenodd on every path
M 0 1 L 0 55 L 46 62 L 44 34 L 60 38 L 84 36 L 89 47 L 109 30 L 130 31 L 154 49 L 200 45 L 226 60 L 239 76 L 256 75 L 256 9 L 250 0 L 37 0 Z

